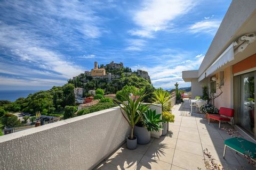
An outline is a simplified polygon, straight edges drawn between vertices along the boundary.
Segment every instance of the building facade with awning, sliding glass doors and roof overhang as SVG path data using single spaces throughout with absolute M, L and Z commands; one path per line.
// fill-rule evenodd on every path
M 202 86 L 217 108 L 234 108 L 238 128 L 256 138 L 256 1 L 233 1 L 198 70 L 183 71 L 191 82 L 192 98 L 202 95 Z

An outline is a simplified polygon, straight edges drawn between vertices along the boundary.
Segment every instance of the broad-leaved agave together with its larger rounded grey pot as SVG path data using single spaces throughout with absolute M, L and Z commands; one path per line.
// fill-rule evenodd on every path
M 142 113 L 142 119 L 139 124 L 134 127 L 134 134 L 137 136 L 139 144 L 147 144 L 150 142 L 150 132 L 159 131 L 162 128 L 161 114 L 156 114 L 156 110 L 147 109 Z

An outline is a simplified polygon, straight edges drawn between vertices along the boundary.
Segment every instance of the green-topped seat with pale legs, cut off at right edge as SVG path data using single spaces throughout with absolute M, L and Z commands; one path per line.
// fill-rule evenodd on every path
M 223 152 L 223 159 L 225 159 L 226 148 L 229 147 L 240 154 L 249 156 L 255 162 L 256 159 L 256 143 L 247 141 L 243 138 L 230 138 L 224 141 L 225 147 Z

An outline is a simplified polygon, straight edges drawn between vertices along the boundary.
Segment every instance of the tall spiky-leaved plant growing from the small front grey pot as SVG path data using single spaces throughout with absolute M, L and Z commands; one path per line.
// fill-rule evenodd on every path
M 142 103 L 142 99 L 147 96 L 142 95 L 140 96 L 137 100 L 134 98 L 130 98 L 130 97 L 125 97 L 122 96 L 122 98 L 124 98 L 126 101 L 121 101 L 121 100 L 115 100 L 118 105 L 124 110 L 126 116 L 125 120 L 130 124 L 131 126 L 131 135 L 130 135 L 130 139 L 132 140 L 134 135 L 133 135 L 133 130 L 134 130 L 134 126 L 135 124 L 137 124 L 142 118 L 143 118 L 143 112 L 145 112 L 146 108 L 145 105 Z M 121 112 L 122 112 L 121 109 Z M 123 114 L 123 112 L 122 112 Z M 123 114 L 124 115 L 124 114 Z

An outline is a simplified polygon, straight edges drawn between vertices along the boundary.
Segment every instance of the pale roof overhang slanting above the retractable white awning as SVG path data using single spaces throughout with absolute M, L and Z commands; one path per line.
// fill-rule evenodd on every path
M 256 1 L 232 1 L 198 73 L 202 75 L 239 37 L 256 31 Z

